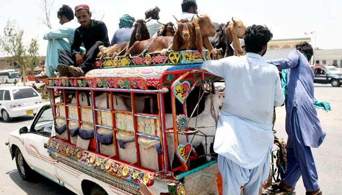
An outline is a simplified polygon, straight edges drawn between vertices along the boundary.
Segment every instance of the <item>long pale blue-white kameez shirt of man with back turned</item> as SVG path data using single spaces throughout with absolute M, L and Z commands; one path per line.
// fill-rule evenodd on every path
M 254 53 L 208 60 L 201 68 L 225 80 L 214 151 L 243 168 L 259 166 L 273 147 L 273 108 L 284 102 L 278 69 Z

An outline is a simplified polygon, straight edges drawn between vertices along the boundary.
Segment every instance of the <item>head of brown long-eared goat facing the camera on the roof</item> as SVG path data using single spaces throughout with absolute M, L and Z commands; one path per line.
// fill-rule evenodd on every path
M 177 31 L 173 36 L 172 50 L 191 49 L 192 23 L 188 19 L 181 19 L 177 20 L 177 25 Z

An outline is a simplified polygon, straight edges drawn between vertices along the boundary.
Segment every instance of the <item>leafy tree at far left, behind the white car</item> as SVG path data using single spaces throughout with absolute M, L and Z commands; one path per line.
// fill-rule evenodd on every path
M 38 42 L 31 39 L 30 44 L 24 45 L 22 35 L 24 31 L 16 27 L 16 22 L 8 20 L 3 28 L 4 36 L 0 36 L 0 51 L 9 56 L 21 68 L 23 78 L 26 78 L 27 67 L 38 64 Z M 23 79 L 25 85 L 25 79 Z

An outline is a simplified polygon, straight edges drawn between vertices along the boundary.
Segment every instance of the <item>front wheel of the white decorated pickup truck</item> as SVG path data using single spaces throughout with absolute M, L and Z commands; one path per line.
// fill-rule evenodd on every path
M 25 181 L 33 181 L 35 178 L 36 172 L 33 171 L 26 163 L 24 156 L 22 156 L 19 148 L 16 150 L 16 164 L 19 175 Z

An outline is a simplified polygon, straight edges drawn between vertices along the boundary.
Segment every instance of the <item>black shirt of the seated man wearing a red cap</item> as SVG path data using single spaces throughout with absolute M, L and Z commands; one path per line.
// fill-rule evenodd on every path
M 107 26 L 103 21 L 90 20 L 89 29 L 86 29 L 82 25 L 76 28 L 74 42 L 71 45 L 72 55 L 79 53 L 82 42 L 85 50 L 89 50 L 96 41 L 102 41 L 105 47 L 109 46 Z

